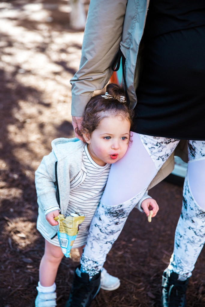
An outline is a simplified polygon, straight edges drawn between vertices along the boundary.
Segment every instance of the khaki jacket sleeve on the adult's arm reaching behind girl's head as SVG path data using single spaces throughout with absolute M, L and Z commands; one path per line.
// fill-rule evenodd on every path
M 80 68 L 70 80 L 73 116 L 82 116 L 94 90 L 112 75 L 111 65 L 122 37 L 127 0 L 91 0 L 82 44 Z

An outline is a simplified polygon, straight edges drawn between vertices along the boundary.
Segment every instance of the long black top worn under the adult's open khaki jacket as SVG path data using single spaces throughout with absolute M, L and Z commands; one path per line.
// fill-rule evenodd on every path
M 205 1 L 151 0 L 134 132 L 205 140 Z

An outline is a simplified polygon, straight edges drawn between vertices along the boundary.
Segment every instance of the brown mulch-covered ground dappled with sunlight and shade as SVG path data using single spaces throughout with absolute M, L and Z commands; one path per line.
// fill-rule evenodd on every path
M 87 7 L 86 7 L 87 8 Z M 4 307 L 34 306 L 44 239 L 36 230 L 34 171 L 51 141 L 72 137 L 70 78 L 80 62 L 82 31 L 69 28 L 65 0 L 0 2 L 0 255 Z M 160 306 L 161 275 L 173 249 L 182 187 L 161 182 L 150 190 L 160 205 L 148 223 L 134 209 L 107 256 L 105 268 L 119 289 L 100 290 L 92 307 Z M 64 306 L 77 250 L 57 275 L 57 304 Z M 187 291 L 187 307 L 205 306 L 205 250 Z

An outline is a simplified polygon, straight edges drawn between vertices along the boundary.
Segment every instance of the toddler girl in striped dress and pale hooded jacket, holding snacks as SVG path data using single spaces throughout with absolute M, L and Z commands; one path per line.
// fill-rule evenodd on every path
M 65 216 L 73 212 L 85 215 L 73 243 L 81 254 L 110 166 L 124 156 L 129 144 L 132 145 L 132 111 L 125 103 L 124 90 L 116 84 L 108 84 L 106 90 L 105 95 L 92 97 L 85 107 L 82 132 L 77 131 L 85 142 L 77 138 L 53 140 L 52 152 L 43 158 L 35 173 L 39 205 L 37 229 L 45 238 L 36 307 L 56 306 L 55 278 L 63 253 L 54 217 L 59 212 Z M 117 184 L 117 178 L 113 184 Z M 146 195 L 141 202 L 144 211 L 149 208 L 153 210 L 153 216 L 156 215 L 158 205 L 155 200 Z M 114 290 L 120 286 L 118 278 L 110 276 L 106 270 L 102 272 L 102 276 L 107 275 L 108 282 L 111 282 L 111 285 L 106 285 L 105 281 L 103 289 Z

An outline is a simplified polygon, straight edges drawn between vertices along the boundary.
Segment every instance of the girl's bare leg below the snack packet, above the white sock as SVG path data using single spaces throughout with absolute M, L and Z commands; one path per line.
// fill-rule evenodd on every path
M 45 240 L 45 251 L 39 268 L 39 281 L 41 286 L 50 287 L 54 284 L 58 266 L 63 256 L 61 247 L 55 246 Z

